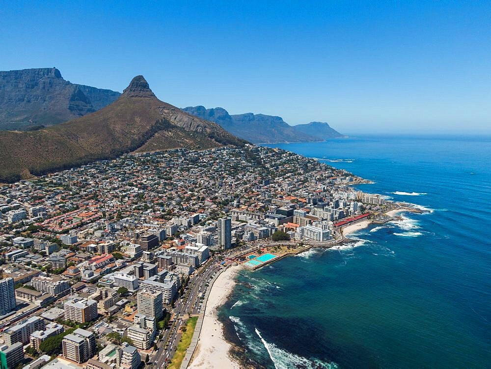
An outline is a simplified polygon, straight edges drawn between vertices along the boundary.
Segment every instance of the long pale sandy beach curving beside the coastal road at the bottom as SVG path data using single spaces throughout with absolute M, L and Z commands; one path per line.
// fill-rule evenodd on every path
M 223 326 L 217 316 L 217 309 L 225 303 L 227 296 L 232 291 L 235 284 L 235 273 L 240 268 L 240 266 L 228 267 L 213 284 L 205 308 L 199 342 L 188 368 L 240 368 L 239 364 L 228 355 L 231 345 L 223 338 Z

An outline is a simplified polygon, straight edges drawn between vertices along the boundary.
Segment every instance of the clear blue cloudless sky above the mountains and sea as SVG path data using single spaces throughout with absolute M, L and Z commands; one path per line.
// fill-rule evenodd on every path
M 488 1 L 4 1 L 0 70 L 340 132 L 490 133 Z

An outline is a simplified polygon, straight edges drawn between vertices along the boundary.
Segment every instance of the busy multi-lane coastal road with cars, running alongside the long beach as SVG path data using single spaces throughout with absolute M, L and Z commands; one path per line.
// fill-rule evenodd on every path
M 206 291 L 207 283 L 213 278 L 222 266 L 218 264 L 218 258 L 212 258 L 202 268 L 197 271 L 192 277 L 184 292 L 182 298 L 179 298 L 174 308 L 174 321 L 169 329 L 164 331 L 163 337 L 157 342 L 158 350 L 150 358 L 149 368 L 165 368 L 166 364 L 174 356 L 177 344 L 181 339 L 179 327 L 183 325 L 183 321 L 188 318 L 188 313 L 191 315 L 201 313 L 200 296 Z M 167 345 L 166 345 L 167 343 Z

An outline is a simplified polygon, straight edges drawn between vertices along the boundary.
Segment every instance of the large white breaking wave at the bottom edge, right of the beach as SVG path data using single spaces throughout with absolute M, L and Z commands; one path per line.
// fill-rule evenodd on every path
M 274 368 L 276 369 L 290 369 L 290 368 L 337 368 L 334 363 L 323 363 L 319 360 L 309 360 L 307 358 L 301 357 L 299 355 L 293 354 L 291 352 L 282 350 L 274 343 L 267 342 L 262 336 L 261 332 L 255 328 L 256 334 L 263 342 L 266 351 L 270 355 L 271 361 L 273 361 Z

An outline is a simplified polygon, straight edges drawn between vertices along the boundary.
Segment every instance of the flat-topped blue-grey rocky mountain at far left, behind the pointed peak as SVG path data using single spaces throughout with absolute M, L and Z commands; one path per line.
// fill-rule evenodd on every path
M 120 95 L 72 84 L 56 68 L 0 71 L 0 129 L 66 122 L 104 108 Z

